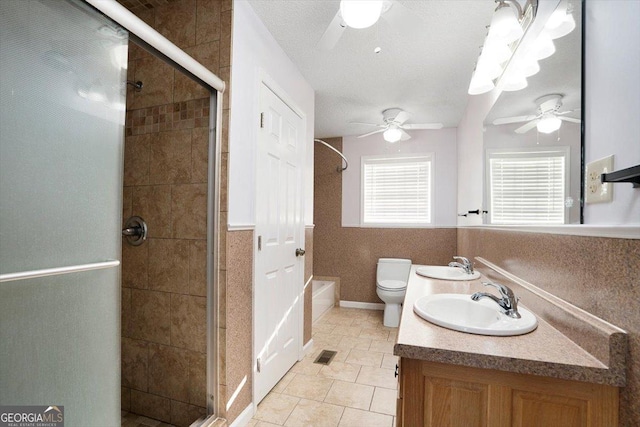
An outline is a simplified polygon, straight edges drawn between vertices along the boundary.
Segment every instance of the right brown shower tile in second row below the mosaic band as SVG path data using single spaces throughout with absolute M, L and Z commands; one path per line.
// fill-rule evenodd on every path
M 207 184 L 174 185 L 171 189 L 173 237 L 207 238 Z

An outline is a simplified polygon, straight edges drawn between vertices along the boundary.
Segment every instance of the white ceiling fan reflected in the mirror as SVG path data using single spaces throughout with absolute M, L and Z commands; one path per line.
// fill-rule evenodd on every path
M 562 107 L 563 95 L 553 93 L 550 95 L 541 96 L 536 99 L 538 105 L 537 114 L 530 116 L 515 116 L 515 117 L 503 117 L 501 119 L 495 119 L 494 125 L 506 125 L 510 123 L 527 122 L 525 125 L 520 126 L 515 130 L 516 133 L 529 132 L 534 127 L 538 128 L 538 132 L 551 133 L 560 129 L 562 121 L 580 123 L 580 119 L 573 117 L 565 117 L 565 114 L 572 113 L 574 111 L 580 111 L 580 109 L 559 111 Z

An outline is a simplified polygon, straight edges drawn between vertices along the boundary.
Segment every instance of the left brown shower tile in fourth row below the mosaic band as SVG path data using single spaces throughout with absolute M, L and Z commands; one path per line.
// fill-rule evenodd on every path
M 131 337 L 160 344 L 171 342 L 170 295 L 131 290 Z

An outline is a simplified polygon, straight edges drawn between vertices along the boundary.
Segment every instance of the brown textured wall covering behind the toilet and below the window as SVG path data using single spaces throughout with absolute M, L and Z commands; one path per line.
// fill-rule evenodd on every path
M 342 151 L 342 138 L 325 140 Z M 360 159 L 351 159 L 359 162 Z M 376 294 L 378 258 L 446 265 L 456 255 L 455 228 L 342 227 L 340 157 L 315 144 L 313 274 L 340 278 L 340 299 L 381 303 Z

